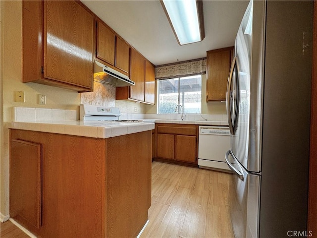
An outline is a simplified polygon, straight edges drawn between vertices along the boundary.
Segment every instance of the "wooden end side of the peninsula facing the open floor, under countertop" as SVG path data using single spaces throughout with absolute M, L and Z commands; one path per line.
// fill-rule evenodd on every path
M 137 237 L 148 220 L 152 184 L 151 135 L 151 131 L 145 131 L 107 140 L 107 238 Z M 125 149 L 118 150 L 119 147 Z

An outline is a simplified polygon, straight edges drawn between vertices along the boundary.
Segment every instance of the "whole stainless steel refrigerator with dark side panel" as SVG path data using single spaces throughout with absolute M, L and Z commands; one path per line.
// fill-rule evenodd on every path
M 309 236 L 313 1 L 250 1 L 227 90 L 236 238 Z

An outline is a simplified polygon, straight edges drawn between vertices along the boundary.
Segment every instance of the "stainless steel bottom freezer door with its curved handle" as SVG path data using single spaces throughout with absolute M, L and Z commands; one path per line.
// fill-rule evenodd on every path
M 230 218 L 235 238 L 259 237 L 259 194 L 261 176 L 248 173 L 226 153 L 226 162 L 234 174 L 230 181 Z

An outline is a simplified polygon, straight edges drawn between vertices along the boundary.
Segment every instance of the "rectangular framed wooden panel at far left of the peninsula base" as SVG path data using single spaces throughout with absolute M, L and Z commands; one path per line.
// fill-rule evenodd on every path
M 42 209 L 42 147 L 11 140 L 10 216 L 40 229 Z

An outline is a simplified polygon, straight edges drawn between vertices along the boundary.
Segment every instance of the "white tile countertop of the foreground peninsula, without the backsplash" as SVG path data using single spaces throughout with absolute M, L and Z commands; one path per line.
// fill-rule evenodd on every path
M 77 135 L 94 138 L 109 138 L 114 136 L 132 134 L 147 130 L 152 130 L 155 127 L 151 122 L 120 122 L 120 121 L 36 121 L 22 122 L 13 121 L 7 122 L 7 127 L 10 129 L 33 130 L 41 132 L 50 132 L 66 135 Z

